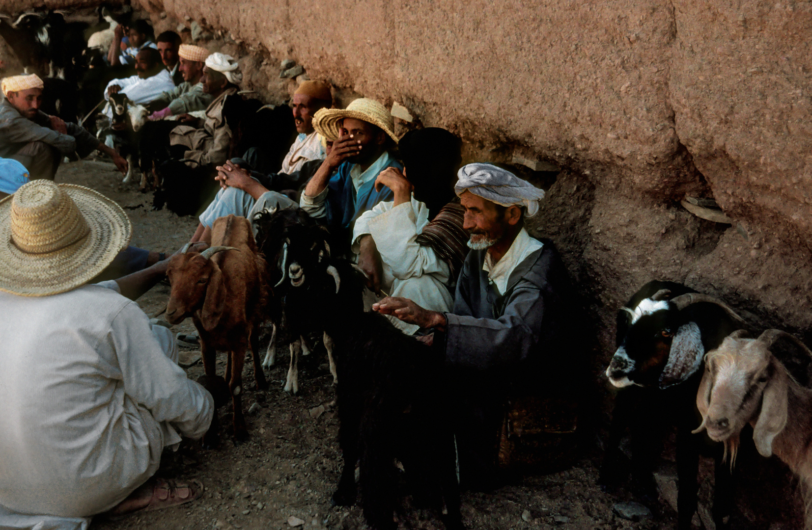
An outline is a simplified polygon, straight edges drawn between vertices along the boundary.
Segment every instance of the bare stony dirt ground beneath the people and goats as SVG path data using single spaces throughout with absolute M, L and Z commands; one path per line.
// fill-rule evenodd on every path
M 126 209 L 132 220 L 132 244 L 163 252 L 174 252 L 188 240 L 197 225 L 194 218 L 179 218 L 166 209 L 151 210 L 151 194 L 142 194 L 132 185 L 121 184 L 121 176 L 109 162 L 80 161 L 63 165 L 58 183 L 77 183 L 93 187 Z M 158 284 L 138 303 L 152 316 L 166 302 L 169 288 Z M 191 321 L 173 327 L 176 332 L 191 332 Z M 247 363 L 244 408 L 249 407 L 250 439 L 235 445 L 227 434 L 231 414 L 228 407 L 220 410 L 222 442 L 217 450 L 203 450 L 194 443 L 165 455 L 158 472 L 169 478 L 195 478 L 205 485 L 201 499 L 184 506 L 162 511 L 130 515 L 118 520 L 97 519 L 92 528 L 290 528 L 288 518 L 304 521 L 302 528 L 366 528 L 358 506 L 330 506 L 330 495 L 339 478 L 340 451 L 337 442 L 338 423 L 330 402 L 335 398 L 323 348 L 304 357 L 298 396 L 283 391 L 287 373 L 287 355 L 279 351 L 278 364 L 267 374 L 270 390 L 257 392 L 253 385 L 253 368 Z M 191 378 L 201 375 L 199 351 L 184 348 L 181 364 Z M 218 355 L 224 371 L 225 356 Z M 596 438 L 594 444 L 600 444 Z M 612 511 L 615 502 L 631 500 L 621 491 L 602 493 L 595 484 L 598 477 L 599 452 L 587 448 L 573 468 L 543 476 L 527 476 L 515 484 L 492 493 L 464 493 L 464 524 L 468 528 L 562 528 L 563 530 L 615 530 L 644 528 L 667 530 L 675 527 L 676 500 L 673 486 L 673 455 L 664 455 L 663 498 L 654 509 L 655 519 L 632 522 Z M 709 462 L 703 463 L 709 468 Z M 661 478 L 662 478 L 661 477 Z M 671 483 L 669 485 L 669 480 Z M 707 482 L 707 481 L 706 481 Z M 707 499 L 709 485 L 703 484 L 702 498 Z M 671 497 L 671 498 L 669 498 Z M 705 510 L 705 508 L 703 508 Z M 707 521 L 707 515 L 705 515 Z M 436 514 L 408 507 L 398 517 L 400 528 L 443 528 Z M 699 522 L 697 520 L 697 522 Z M 710 527 L 707 527 L 710 528 Z M 761 528 L 748 525 L 740 528 Z M 765 526 L 764 528 L 767 528 Z M 784 527 L 773 524 L 771 530 Z

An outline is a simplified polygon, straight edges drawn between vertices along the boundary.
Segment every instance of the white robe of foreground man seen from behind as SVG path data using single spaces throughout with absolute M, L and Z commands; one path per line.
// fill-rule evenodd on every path
M 135 302 L 97 285 L 0 292 L 0 313 L 0 528 L 15 528 L 10 512 L 109 510 L 153 475 L 164 447 L 209 428 L 211 394 Z

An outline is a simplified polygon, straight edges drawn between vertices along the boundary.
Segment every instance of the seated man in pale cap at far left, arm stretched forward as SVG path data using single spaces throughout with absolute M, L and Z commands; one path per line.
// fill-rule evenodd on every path
M 113 158 L 115 166 L 127 173 L 127 161 L 114 149 L 76 123 L 65 123 L 45 114 L 42 80 L 36 74 L 15 75 L 2 80 L 0 103 L 0 157 L 14 158 L 28 169 L 31 179 L 54 179 L 63 157 L 86 157 L 98 149 Z

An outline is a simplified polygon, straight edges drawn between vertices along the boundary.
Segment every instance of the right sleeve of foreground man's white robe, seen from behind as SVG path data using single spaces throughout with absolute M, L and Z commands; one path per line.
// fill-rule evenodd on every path
M 202 437 L 214 415 L 214 399 L 172 362 L 138 304 L 124 306 L 110 325 L 110 337 L 124 393 L 149 409 L 156 421 L 171 423 L 186 437 Z

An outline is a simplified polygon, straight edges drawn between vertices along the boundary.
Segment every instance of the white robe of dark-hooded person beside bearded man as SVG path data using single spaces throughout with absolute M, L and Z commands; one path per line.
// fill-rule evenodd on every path
M 432 311 L 451 311 L 454 297 L 449 287 L 454 278 L 448 264 L 437 256 L 434 248 L 417 243 L 417 235 L 429 224 L 428 207 L 413 196 L 411 202 L 394 205 L 394 201 L 380 202 L 361 213 L 352 231 L 353 252 L 358 253 L 358 239 L 362 235 L 372 235 L 381 255 L 383 291 L 411 299 Z M 387 317 L 405 334 L 420 329 L 418 325 Z

